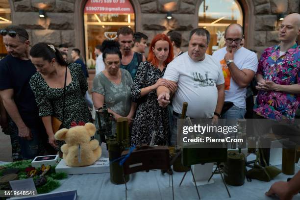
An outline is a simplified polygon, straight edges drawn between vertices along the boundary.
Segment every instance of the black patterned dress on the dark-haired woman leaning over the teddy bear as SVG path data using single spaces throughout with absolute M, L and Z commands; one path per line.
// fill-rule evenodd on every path
M 70 128 L 71 122 L 92 122 L 84 95 L 88 84 L 83 75 L 81 66 L 75 63 L 68 65 L 72 81 L 66 86 L 64 128 Z M 50 88 L 40 73 L 35 73 L 30 79 L 31 90 L 39 108 L 39 116 L 54 116 L 62 122 L 63 118 L 63 88 Z M 55 133 L 54 133 L 55 134 Z M 60 147 L 64 141 L 56 141 Z

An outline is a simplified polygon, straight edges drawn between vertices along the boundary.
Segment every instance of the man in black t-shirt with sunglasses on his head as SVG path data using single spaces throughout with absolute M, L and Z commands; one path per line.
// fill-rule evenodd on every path
M 39 153 L 39 138 L 46 132 L 29 85 L 36 68 L 29 59 L 28 33 L 20 26 L 10 25 L 1 29 L 0 34 L 8 52 L 0 60 L 0 96 L 12 119 L 9 132 L 11 138 L 19 139 L 22 157 L 34 158 Z

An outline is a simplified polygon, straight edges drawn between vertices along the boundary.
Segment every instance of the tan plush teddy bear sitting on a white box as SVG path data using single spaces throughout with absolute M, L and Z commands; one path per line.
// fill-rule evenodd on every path
M 54 137 L 56 140 L 64 140 L 60 149 L 63 152 L 63 159 L 70 167 L 80 167 L 92 165 L 101 156 L 101 148 L 98 140 L 91 140 L 96 127 L 92 123 L 78 125 L 70 129 L 62 128 L 58 130 Z

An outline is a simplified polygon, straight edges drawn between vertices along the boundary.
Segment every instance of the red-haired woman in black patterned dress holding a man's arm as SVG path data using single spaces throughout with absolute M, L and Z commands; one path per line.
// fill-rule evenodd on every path
M 131 145 L 165 144 L 169 134 L 168 108 L 159 107 L 156 88 L 169 87 L 173 92 L 176 85 L 162 78 L 167 65 L 174 57 L 172 43 L 165 34 L 157 34 L 149 48 L 148 61 L 142 62 L 136 73 L 131 96 L 138 103 L 132 126 Z

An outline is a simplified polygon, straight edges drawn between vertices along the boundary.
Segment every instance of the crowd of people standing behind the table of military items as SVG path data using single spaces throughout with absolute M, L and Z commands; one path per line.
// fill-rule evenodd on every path
M 243 47 L 238 24 L 226 28 L 225 47 L 212 55 L 206 54 L 210 33 L 204 28 L 190 32 L 187 52 L 180 49 L 180 33 L 159 33 L 150 42 L 147 59 L 148 37 L 121 27 L 116 41 L 104 40 L 95 48 L 92 100 L 80 50 L 72 50 L 74 62 L 69 63 L 66 45 L 31 48 L 26 30 L 15 25 L 0 34 L 8 52 L 0 61 L 0 125 L 11 137 L 14 160 L 59 150 L 63 142 L 54 139 L 53 121 L 65 128 L 72 122 L 93 122 L 89 108 L 97 110 L 104 103 L 115 120 L 128 119 L 131 145 L 150 144 L 154 132 L 154 144 L 175 145 L 183 102 L 188 102 L 191 118 L 235 123 L 245 117 L 247 87 L 254 77 L 258 93 L 249 118 L 294 120 L 299 107 L 298 13 L 284 18 L 280 43 L 264 50 L 259 61 Z M 278 185 L 267 195 L 276 193 Z

